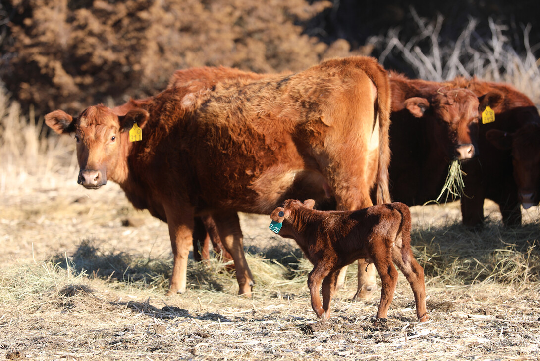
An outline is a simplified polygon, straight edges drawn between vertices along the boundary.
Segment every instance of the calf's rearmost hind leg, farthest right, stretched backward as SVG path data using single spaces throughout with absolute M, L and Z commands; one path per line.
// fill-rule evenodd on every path
M 413 251 L 409 251 L 407 263 L 403 262 L 401 248 L 393 248 L 394 263 L 401 273 L 407 278 L 410 288 L 413 290 L 414 301 L 416 303 L 416 317 L 420 322 L 426 322 L 429 319 L 426 309 L 426 284 L 424 283 L 424 269 L 416 262 Z

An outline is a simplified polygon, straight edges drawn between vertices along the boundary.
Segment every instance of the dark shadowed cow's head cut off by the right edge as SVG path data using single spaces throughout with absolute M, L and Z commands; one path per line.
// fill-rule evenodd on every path
M 530 123 L 514 133 L 492 129 L 485 137 L 499 149 L 512 152 L 514 180 L 523 208 L 540 201 L 540 124 Z

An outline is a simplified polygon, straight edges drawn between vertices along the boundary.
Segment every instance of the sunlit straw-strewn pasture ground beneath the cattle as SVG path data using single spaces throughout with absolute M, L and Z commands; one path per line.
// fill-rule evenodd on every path
M 505 230 L 494 205 L 481 230 L 458 224 L 457 203 L 413 207 L 413 246 L 426 270 L 431 320 L 416 323 L 400 281 L 379 328 L 380 289 L 352 302 L 356 267 L 317 321 L 295 244 L 241 215 L 257 285 L 237 296 L 214 257 L 190 263 L 189 290 L 165 297 L 167 227 L 132 209 L 118 186 L 75 184 L 71 168 L 46 176 L 3 174 L 0 193 L 0 358 L 31 360 L 538 359 L 537 209 Z M 285 257 L 285 258 L 284 258 Z

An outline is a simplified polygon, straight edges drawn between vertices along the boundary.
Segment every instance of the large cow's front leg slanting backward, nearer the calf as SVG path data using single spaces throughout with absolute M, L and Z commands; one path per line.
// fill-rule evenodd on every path
M 247 265 L 246 256 L 244 255 L 244 244 L 242 242 L 242 230 L 240 229 L 240 220 L 236 212 L 223 212 L 213 215 L 215 226 L 219 231 L 219 236 L 223 246 L 231 254 L 238 286 L 239 294 L 251 297 L 251 290 L 254 285 L 251 270 Z

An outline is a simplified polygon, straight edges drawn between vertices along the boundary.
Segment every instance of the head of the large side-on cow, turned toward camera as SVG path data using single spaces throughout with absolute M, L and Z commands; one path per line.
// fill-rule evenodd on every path
M 79 117 L 61 110 L 45 115 L 45 123 L 58 134 L 75 134 L 79 161 L 78 183 L 96 189 L 107 177 L 121 183 L 127 177 L 129 130 L 135 122 L 143 128 L 149 114 L 133 109 L 124 115 L 116 114 L 103 105 L 91 106 Z

